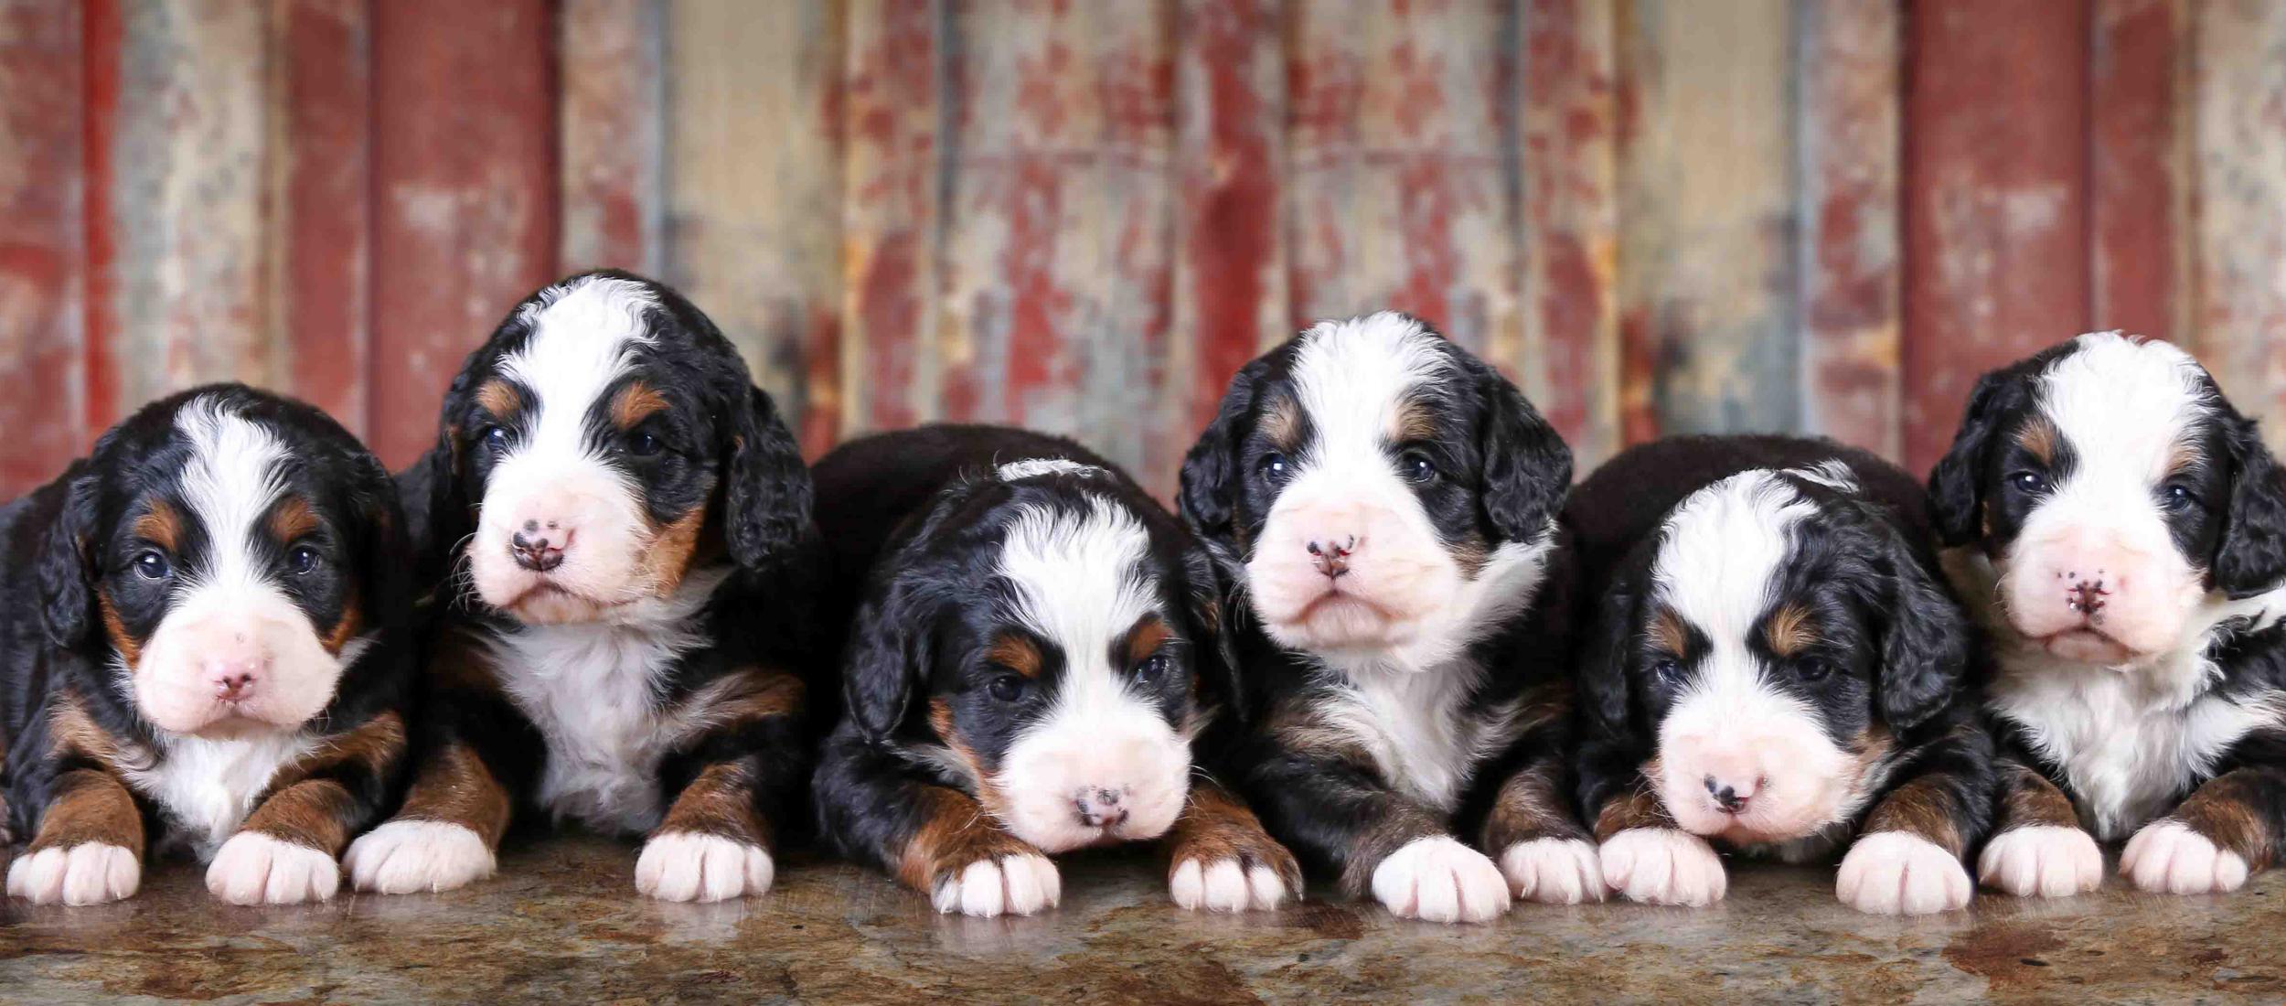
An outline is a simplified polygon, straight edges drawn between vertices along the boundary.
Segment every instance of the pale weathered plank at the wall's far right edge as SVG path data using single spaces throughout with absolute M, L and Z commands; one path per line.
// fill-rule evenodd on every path
M 2286 7 L 2197 7 L 2199 359 L 2286 444 Z

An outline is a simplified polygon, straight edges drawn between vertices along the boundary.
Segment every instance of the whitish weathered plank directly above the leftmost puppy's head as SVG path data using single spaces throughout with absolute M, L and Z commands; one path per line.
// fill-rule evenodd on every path
M 112 251 L 105 329 L 112 423 L 199 382 L 277 384 L 267 327 L 263 203 L 265 55 L 261 5 L 126 2 L 107 197 L 89 229 Z

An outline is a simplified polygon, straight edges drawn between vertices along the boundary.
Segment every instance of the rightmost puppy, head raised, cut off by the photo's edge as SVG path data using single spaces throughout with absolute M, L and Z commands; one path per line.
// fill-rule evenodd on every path
M 2119 334 L 1996 370 L 1929 505 L 1996 647 L 1984 883 L 2094 889 L 2096 839 L 2128 839 L 2119 871 L 2147 892 L 2229 892 L 2270 864 L 2286 835 L 2286 478 L 2215 380 Z

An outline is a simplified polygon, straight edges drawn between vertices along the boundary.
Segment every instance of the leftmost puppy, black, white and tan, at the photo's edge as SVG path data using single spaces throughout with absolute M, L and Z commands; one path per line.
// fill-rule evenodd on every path
M 331 899 L 405 754 L 402 528 L 354 437 L 238 384 L 0 510 L 7 892 L 117 901 L 190 851 L 224 901 Z

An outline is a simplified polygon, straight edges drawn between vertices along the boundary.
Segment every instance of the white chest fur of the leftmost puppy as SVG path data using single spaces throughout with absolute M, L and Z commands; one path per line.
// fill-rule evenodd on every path
M 299 761 L 318 743 L 299 734 L 206 741 L 169 736 L 149 768 L 123 768 L 128 787 L 151 798 L 174 825 L 167 846 L 187 846 L 199 860 L 247 821 L 254 800 L 270 789 L 279 768 Z M 133 757 L 123 761 L 139 761 Z

